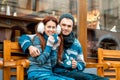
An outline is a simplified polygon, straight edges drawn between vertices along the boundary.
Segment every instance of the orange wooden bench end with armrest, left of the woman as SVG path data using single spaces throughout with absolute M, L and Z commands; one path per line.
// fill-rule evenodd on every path
M 11 76 L 16 75 L 17 80 L 24 80 L 24 69 L 29 66 L 30 62 L 18 42 L 4 40 L 3 51 L 3 64 L 1 64 L 3 67 L 3 79 L 10 80 Z

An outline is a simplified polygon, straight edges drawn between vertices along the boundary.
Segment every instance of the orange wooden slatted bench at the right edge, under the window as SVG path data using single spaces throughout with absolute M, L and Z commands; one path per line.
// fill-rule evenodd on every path
M 107 63 L 108 68 L 98 68 L 100 76 L 120 80 L 120 50 L 98 49 L 98 63 Z

